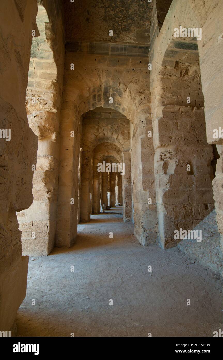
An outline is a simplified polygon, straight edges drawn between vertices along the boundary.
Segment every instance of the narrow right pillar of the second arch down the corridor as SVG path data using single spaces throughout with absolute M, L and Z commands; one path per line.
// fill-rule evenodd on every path
M 122 162 L 125 163 L 125 174 L 121 175 L 123 177 L 123 221 L 132 222 L 131 154 L 129 151 L 124 151 Z

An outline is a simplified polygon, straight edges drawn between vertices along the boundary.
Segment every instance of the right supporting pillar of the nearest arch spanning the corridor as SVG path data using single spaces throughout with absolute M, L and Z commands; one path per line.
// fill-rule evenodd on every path
M 148 74 L 147 74 L 148 75 Z M 150 100 L 148 101 L 150 102 Z M 140 244 L 157 242 L 157 207 L 154 181 L 154 148 L 150 107 L 137 112 L 138 124 L 131 127 L 131 187 L 134 235 Z M 146 125 L 144 125 L 146 124 Z M 151 131 L 151 137 L 148 136 Z M 152 204 L 148 204 L 148 198 Z

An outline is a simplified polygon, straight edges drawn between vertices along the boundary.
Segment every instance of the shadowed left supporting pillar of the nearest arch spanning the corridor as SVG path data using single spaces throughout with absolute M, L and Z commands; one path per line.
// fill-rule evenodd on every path
M 61 111 L 60 175 L 55 243 L 57 247 L 70 247 L 77 234 L 80 139 L 78 132 L 74 133 L 74 137 L 70 136 L 70 131 L 75 129 L 78 126 L 76 123 L 79 122 L 75 114 L 75 109 Z M 71 199 L 73 199 L 72 203 Z

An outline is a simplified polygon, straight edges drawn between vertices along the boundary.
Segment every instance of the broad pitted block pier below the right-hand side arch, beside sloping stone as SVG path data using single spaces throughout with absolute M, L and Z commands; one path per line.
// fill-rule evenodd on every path
M 170 248 L 181 241 L 174 239 L 175 230 L 194 229 L 214 208 L 213 149 L 206 142 L 203 109 L 168 105 L 162 113 L 163 117 L 154 121 L 157 131 L 153 131 L 155 188 L 159 244 Z M 172 123 L 173 116 L 178 124 L 175 132 L 164 127 L 164 123 Z M 198 118 L 199 136 L 194 125 Z

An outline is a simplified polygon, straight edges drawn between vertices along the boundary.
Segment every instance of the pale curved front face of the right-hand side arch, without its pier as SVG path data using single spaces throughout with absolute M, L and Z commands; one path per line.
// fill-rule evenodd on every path
M 181 10 L 180 10 L 181 9 Z M 210 37 L 208 27 L 210 26 L 210 16 L 213 18 L 213 34 Z M 154 83 L 156 82 L 156 75 L 162 64 L 164 53 L 168 46 L 175 41 L 173 37 L 174 28 L 178 28 L 180 25 L 185 28 L 202 28 L 201 40 L 197 42 L 199 58 L 200 58 L 200 70 L 201 70 L 201 82 L 205 99 L 205 120 L 206 120 L 206 132 L 208 143 L 215 143 L 213 139 L 212 123 L 209 119 L 210 114 L 214 114 L 215 111 L 221 111 L 219 106 L 220 96 L 218 96 L 218 102 L 214 102 L 208 94 L 219 94 L 220 83 L 214 83 L 214 91 L 211 85 L 216 79 L 216 76 L 222 73 L 222 66 L 220 66 L 220 52 L 219 46 L 222 45 L 221 37 L 222 28 L 219 27 L 219 21 L 221 17 L 220 4 L 217 0 L 209 2 L 206 6 L 200 6 L 193 0 L 189 0 L 186 3 L 182 0 L 173 0 L 166 18 L 163 22 L 163 26 L 152 47 L 150 47 L 150 62 L 153 63 L 152 72 L 150 74 L 151 91 L 154 90 Z M 183 40 L 183 39 L 181 39 Z M 158 51 L 155 51 L 158 49 Z M 175 47 L 175 50 L 177 46 Z M 161 56 L 160 56 L 161 55 Z M 212 66 L 212 59 L 215 57 L 216 66 Z M 218 66 L 219 64 L 219 66 Z M 209 69 L 209 71 L 208 71 Z M 211 84 L 212 83 L 212 84 Z M 216 118 L 218 119 L 218 113 Z M 210 125 L 210 129 L 209 129 Z M 218 126 L 218 123 L 215 125 Z M 219 139 L 219 143 L 221 140 Z

